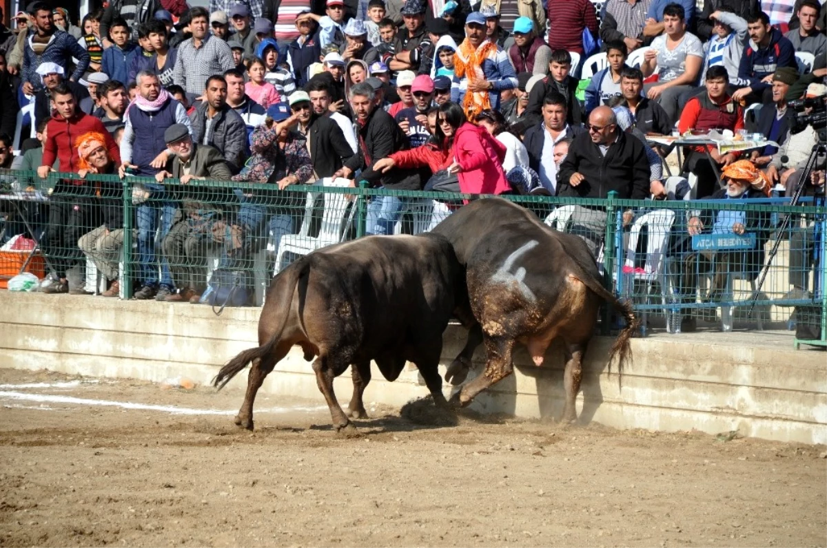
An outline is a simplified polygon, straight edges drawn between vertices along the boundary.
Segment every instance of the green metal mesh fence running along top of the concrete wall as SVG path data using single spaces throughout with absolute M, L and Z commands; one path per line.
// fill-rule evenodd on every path
M 263 303 L 272 276 L 299 255 L 363 234 L 428 231 L 477 198 L 91 174 L 41 180 L 12 171 L 0 171 L 0 189 L 0 243 L 33 237 L 38 252 L 26 268 L 40 265 L 41 277 L 54 272 L 55 284 L 67 279 L 61 291 L 203 303 L 217 289 L 226 298 L 227 288 L 239 286 L 236 300 L 251 305 Z M 827 261 L 819 258 L 827 255 L 827 211 L 811 199 L 793 207 L 783 200 L 507 198 L 581 236 L 606 286 L 645 317 L 644 329 L 786 329 L 804 322 L 825 339 Z M 784 216 L 791 222 L 782 234 Z M 0 256 L 2 276 L 23 266 L 26 250 L 18 251 Z

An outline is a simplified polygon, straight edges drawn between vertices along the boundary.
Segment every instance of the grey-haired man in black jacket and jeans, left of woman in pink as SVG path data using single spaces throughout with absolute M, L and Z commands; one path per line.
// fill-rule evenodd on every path
M 390 114 L 375 106 L 375 91 L 370 83 L 353 86 L 350 101 L 359 131 L 363 178 L 370 183 L 381 183 L 383 188 L 421 190 L 422 180 L 415 169 L 394 169 L 385 175 L 373 170 L 377 160 L 407 149 L 408 137 Z M 412 203 L 412 198 L 374 197 L 367 207 L 366 234 L 393 234 L 394 225 Z

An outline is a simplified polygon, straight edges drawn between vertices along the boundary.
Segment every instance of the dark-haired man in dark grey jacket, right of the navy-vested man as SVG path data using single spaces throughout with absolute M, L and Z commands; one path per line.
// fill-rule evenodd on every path
M 227 80 L 223 76 L 210 76 L 206 86 L 205 100 L 189 116 L 193 139 L 217 148 L 237 173 L 247 159 L 246 124 L 227 104 Z

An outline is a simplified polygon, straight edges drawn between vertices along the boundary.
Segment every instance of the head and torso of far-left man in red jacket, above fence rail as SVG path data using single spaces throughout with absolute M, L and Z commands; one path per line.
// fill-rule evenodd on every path
M 37 168 L 37 174 L 42 179 L 49 176 L 55 157 L 60 160 L 60 171 L 78 171 L 80 157 L 74 140 L 88 131 L 100 131 L 107 137 L 106 148 L 109 157 L 114 160 L 116 166 L 121 165 L 121 151 L 103 126 L 103 122 L 79 111 L 72 90 L 66 83 L 60 83 L 52 89 L 51 105 L 52 117 L 46 125 L 49 138 L 43 145 L 43 164 Z M 79 183 L 83 184 L 83 181 Z

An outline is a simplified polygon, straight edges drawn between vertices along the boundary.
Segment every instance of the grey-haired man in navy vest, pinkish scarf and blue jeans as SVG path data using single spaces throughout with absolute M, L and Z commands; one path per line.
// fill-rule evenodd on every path
M 121 177 L 131 174 L 154 177 L 168 160 L 164 132 L 176 123 L 189 127 L 184 106 L 160 87 L 158 77 L 148 70 L 137 75 L 138 95 L 127 107 L 121 138 L 123 165 Z M 151 198 L 151 200 L 147 199 Z M 133 199 L 133 201 L 136 201 Z M 160 184 L 144 184 L 143 195 L 137 199 L 138 275 L 141 288 L 134 297 L 146 300 L 160 295 L 163 300 L 174 288 L 170 266 L 161 261 L 161 277 L 155 260 L 155 231 L 160 226 L 160 237 L 165 238 L 172 226 L 177 204 Z

